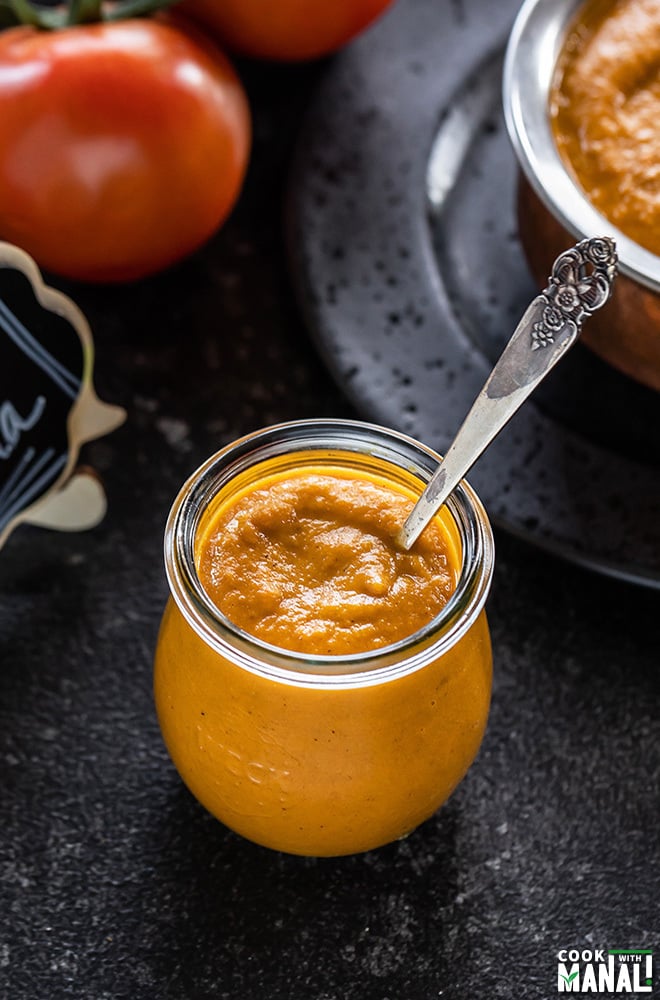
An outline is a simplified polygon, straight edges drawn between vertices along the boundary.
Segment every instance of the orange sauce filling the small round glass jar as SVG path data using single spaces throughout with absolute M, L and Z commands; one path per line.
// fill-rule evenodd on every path
M 365 447 L 397 439 L 332 423 L 366 427 Z M 411 552 L 397 548 L 423 488 L 407 459 L 293 446 L 252 458 L 210 495 L 200 487 L 191 527 L 191 491 L 227 459 L 210 460 L 170 517 L 167 546 L 187 533 L 191 560 L 168 562 L 163 737 L 193 794 L 243 836 L 297 854 L 368 850 L 429 818 L 481 744 L 490 529 L 472 495 L 482 547 L 466 572 L 473 541 L 447 507 Z

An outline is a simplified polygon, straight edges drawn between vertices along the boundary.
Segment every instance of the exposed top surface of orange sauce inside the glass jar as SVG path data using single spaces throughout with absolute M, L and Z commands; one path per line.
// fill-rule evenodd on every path
M 456 553 L 437 521 L 410 552 L 395 544 L 412 505 L 375 477 L 273 477 L 205 526 L 200 580 L 235 625 L 280 648 L 382 648 L 431 621 L 456 583 Z

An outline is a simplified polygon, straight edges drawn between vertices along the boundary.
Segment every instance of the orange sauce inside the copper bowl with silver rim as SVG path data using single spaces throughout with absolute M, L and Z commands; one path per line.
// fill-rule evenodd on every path
M 590 201 L 660 255 L 660 0 L 588 0 L 558 60 L 550 113 Z

